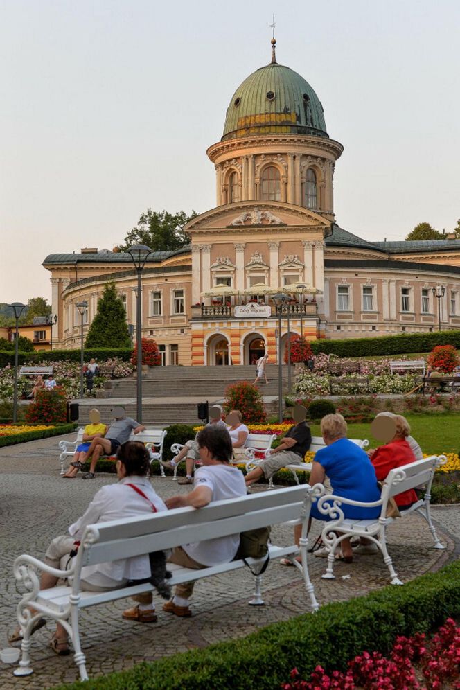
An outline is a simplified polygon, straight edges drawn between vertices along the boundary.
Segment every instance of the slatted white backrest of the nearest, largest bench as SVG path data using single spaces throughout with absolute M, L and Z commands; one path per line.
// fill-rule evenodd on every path
M 82 566 L 105 563 L 196 542 L 197 535 L 204 541 L 297 520 L 303 508 L 307 520 L 311 499 L 322 489 L 321 485 L 289 486 L 217 501 L 199 510 L 177 508 L 148 517 L 92 524 L 82 536 L 78 561 Z

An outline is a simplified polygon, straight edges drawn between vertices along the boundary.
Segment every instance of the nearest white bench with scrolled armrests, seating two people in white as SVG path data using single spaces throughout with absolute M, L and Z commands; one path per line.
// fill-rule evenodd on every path
M 278 489 L 272 493 L 247 495 L 239 499 L 229 499 L 215 502 L 206 508 L 177 508 L 173 511 L 162 511 L 149 517 L 132 517 L 127 520 L 103 522 L 89 525 L 82 536 L 78 555 L 73 559 L 71 569 L 57 570 L 46 563 L 42 563 L 33 556 L 22 555 L 15 560 L 15 577 L 21 587 L 25 587 L 26 594 L 17 605 L 17 620 L 23 632 L 21 644 L 21 660 L 15 675 L 29 675 L 33 673 L 30 667 L 30 629 L 35 621 L 42 616 L 59 621 L 67 630 L 73 645 L 74 660 L 80 670 L 81 680 L 87 680 L 85 668 L 85 654 L 80 644 L 78 613 L 82 608 L 124 599 L 133 594 L 153 590 L 152 585 L 144 583 L 133 587 L 124 587 L 108 592 L 85 592 L 80 590 L 80 572 L 85 565 L 107 563 L 120 558 L 130 558 L 152 551 L 172 549 L 173 547 L 194 542 L 197 534 L 202 540 L 219 538 L 230 534 L 240 533 L 248 529 L 266 527 L 292 521 L 301 522 L 302 536 L 300 548 L 292 544 L 287 547 L 269 546 L 271 559 L 301 554 L 302 563 L 294 561 L 303 575 L 306 594 L 310 597 L 312 610 L 319 608 L 315 598 L 313 585 L 310 582 L 307 563 L 307 529 L 311 502 L 315 501 L 324 491 L 321 484 L 315 487 L 290 486 Z M 263 604 L 261 596 L 262 575 L 260 569 L 266 558 L 246 559 L 259 574 L 255 578 L 254 599 L 252 605 Z M 244 567 L 243 560 L 233 560 L 206 567 L 201 570 L 187 569 L 178 565 L 168 565 L 172 572 L 170 584 L 175 585 L 188 581 L 228 572 Z M 49 590 L 39 589 L 39 575 L 37 571 L 47 572 L 59 578 L 73 578 L 71 585 L 53 587 Z M 31 614 L 29 606 L 35 612 Z

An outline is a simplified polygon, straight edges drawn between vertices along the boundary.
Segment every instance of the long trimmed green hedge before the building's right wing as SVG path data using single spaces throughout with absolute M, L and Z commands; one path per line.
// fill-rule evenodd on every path
M 403 355 L 410 352 L 430 352 L 435 345 L 453 345 L 460 348 L 460 330 L 442 330 L 434 333 L 401 333 L 377 338 L 346 340 L 316 340 L 310 342 L 312 351 L 339 357 L 371 357 L 372 355 Z

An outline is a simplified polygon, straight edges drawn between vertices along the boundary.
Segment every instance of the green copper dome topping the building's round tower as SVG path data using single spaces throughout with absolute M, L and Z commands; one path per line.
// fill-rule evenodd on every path
M 323 107 L 310 84 L 273 60 L 236 89 L 222 141 L 254 134 L 328 136 Z

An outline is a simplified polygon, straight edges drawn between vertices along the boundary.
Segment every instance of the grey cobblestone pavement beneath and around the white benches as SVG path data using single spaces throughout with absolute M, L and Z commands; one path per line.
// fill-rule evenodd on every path
M 16 556 L 28 553 L 42 558 L 51 538 L 64 532 L 85 511 L 100 486 L 114 481 L 111 475 L 99 475 L 92 481 L 62 479 L 57 461 L 60 438 L 0 449 L 0 648 L 8 645 L 8 632 L 15 625 L 19 597 L 12 563 Z M 152 481 L 162 497 L 188 490 L 170 479 Z M 441 538 L 448 546 L 445 551 L 430 548 L 430 532 L 420 517 L 396 522 L 389 529 L 389 551 L 403 581 L 458 557 L 459 513 L 458 506 L 433 508 Z M 317 527 L 312 530 L 313 538 L 317 532 Z M 272 533 L 275 542 L 292 543 L 290 529 L 275 527 Z M 387 568 L 378 556 L 356 556 L 351 565 L 337 563 L 333 581 L 321 580 L 325 567 L 324 559 L 310 558 L 310 575 L 320 604 L 360 596 L 389 583 Z M 240 569 L 200 581 L 195 587 L 191 619 L 163 613 L 161 601 L 157 601 L 159 621 L 152 625 L 123 621 L 121 612 L 127 606 L 126 600 L 84 610 L 80 620 L 89 675 L 129 669 L 141 660 L 242 637 L 268 623 L 310 610 L 297 569 L 276 562 L 269 566 L 263 583 L 264 607 L 247 605 L 253 579 L 247 570 Z M 33 675 L 15 678 L 13 667 L 0 662 L 2 690 L 41 690 L 78 678 L 73 657 L 56 657 L 48 647 L 52 630 L 48 622 L 33 636 Z

